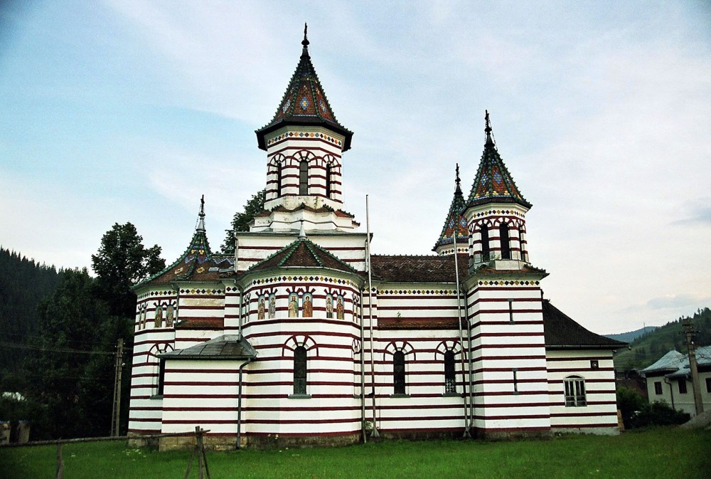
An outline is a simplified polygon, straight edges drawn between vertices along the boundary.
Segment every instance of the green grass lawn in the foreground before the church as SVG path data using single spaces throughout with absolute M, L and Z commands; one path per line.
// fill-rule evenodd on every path
M 0 479 L 53 478 L 55 447 L 0 448 Z M 183 478 L 190 452 L 64 446 L 66 479 Z M 655 428 L 550 441 L 385 441 L 345 448 L 208 451 L 213 479 L 711 478 L 711 431 Z M 197 478 L 196 465 L 191 477 Z

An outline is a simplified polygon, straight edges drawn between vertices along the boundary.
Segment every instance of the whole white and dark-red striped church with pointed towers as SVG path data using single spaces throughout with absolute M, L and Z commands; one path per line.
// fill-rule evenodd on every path
M 471 191 L 457 167 L 434 254 L 371 255 L 370 232 L 343 204 L 353 132 L 336 120 L 305 32 L 301 43 L 256 132 L 264 211 L 235 232 L 234 253 L 217 253 L 201 202 L 185 253 L 134 288 L 129 434 L 201 426 L 209 445 L 240 448 L 619 433 L 612 353 L 624 343 L 542 298 L 531 204 L 488 113 Z

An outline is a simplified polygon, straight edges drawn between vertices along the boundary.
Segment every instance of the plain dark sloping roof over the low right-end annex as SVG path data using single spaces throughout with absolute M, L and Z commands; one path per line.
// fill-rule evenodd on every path
M 545 347 L 551 349 L 619 349 L 627 345 L 626 342 L 610 339 L 586 330 L 557 307 L 550 304 L 549 300 L 543 300 L 543 335 L 545 337 Z

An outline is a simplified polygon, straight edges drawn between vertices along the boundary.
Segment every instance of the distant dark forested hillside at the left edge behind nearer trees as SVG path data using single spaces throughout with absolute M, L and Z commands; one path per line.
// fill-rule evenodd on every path
M 61 275 L 54 266 L 0 247 L 0 391 L 13 390 L 11 377 L 26 356 L 25 349 L 11 344 L 26 344 L 36 334 L 37 306 L 57 288 Z

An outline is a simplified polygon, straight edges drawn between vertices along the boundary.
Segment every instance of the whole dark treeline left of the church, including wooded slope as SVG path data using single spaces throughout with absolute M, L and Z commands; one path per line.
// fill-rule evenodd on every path
M 28 420 L 31 439 L 107 436 L 111 431 L 117 339 L 126 342 L 121 433 L 128 421 L 137 281 L 165 267 L 131 223 L 114 224 L 92 265 L 56 271 L 0 255 L 0 419 Z

